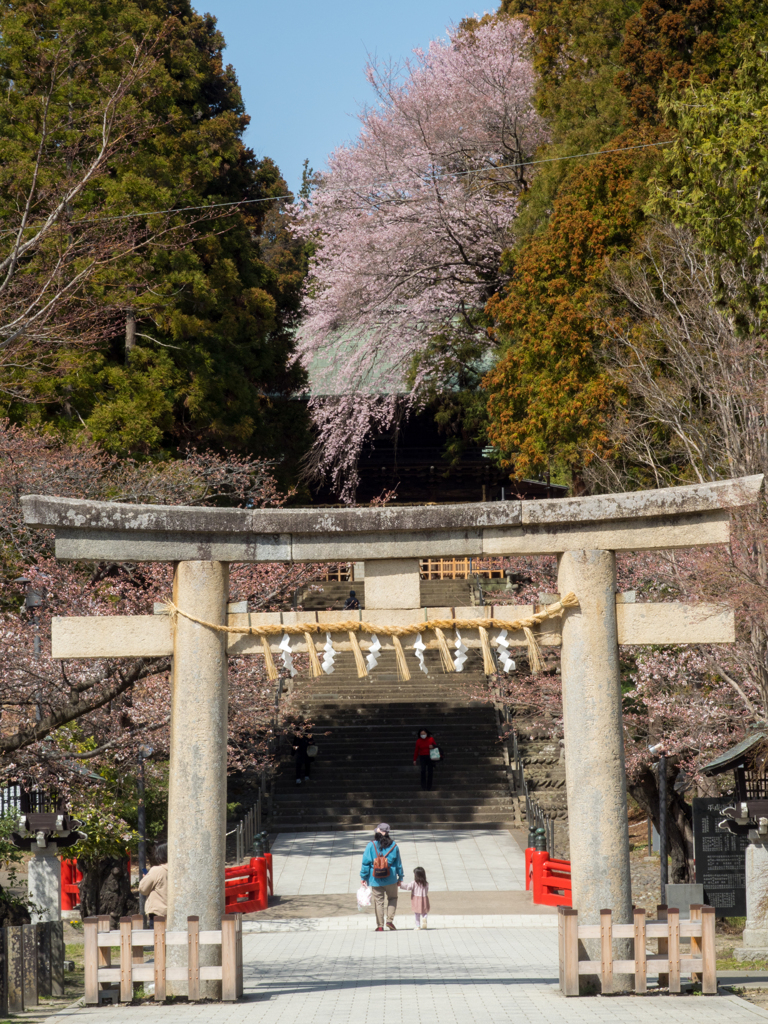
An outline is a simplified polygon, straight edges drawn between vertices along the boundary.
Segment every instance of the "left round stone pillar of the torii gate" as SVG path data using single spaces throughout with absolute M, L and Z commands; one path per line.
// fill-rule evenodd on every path
M 177 562 L 173 603 L 188 614 L 226 625 L 229 566 L 219 561 Z M 173 631 L 171 750 L 168 778 L 168 929 L 184 931 L 189 908 L 201 931 L 221 928 L 226 847 L 226 634 L 179 615 Z M 169 946 L 173 958 L 177 947 Z M 186 950 L 181 950 L 179 963 Z M 200 947 L 201 966 L 219 947 Z M 169 961 L 170 963 L 170 961 Z M 184 986 L 185 990 L 185 986 Z M 219 996 L 220 982 L 201 982 L 201 994 Z

